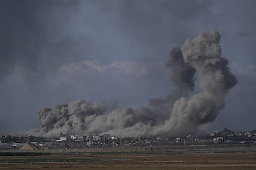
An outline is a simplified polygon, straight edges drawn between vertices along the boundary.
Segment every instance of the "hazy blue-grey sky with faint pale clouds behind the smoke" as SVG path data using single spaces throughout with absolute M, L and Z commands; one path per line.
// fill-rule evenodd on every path
M 175 88 L 169 51 L 202 29 L 221 34 L 238 84 L 199 131 L 256 129 L 255 8 L 254 0 L 0 0 L 0 133 L 39 127 L 37 111 L 54 104 L 165 98 Z

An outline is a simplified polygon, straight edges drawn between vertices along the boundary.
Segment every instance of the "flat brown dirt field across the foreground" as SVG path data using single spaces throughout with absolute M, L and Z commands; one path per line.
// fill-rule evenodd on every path
M 2 156 L 0 161 L 0 169 L 256 170 L 256 153 Z

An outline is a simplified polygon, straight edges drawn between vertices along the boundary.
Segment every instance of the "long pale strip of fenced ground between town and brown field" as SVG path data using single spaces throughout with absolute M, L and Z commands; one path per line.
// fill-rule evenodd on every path
M 214 150 L 219 151 L 234 148 L 234 152 L 241 150 L 242 152 L 256 152 L 256 144 L 218 144 L 218 145 L 192 145 L 192 146 L 177 146 L 177 145 L 138 145 L 138 146 L 104 146 L 104 147 L 86 147 L 77 146 L 74 149 L 33 149 L 33 150 L 0 150 L 0 152 L 34 152 L 34 153 L 108 153 L 108 152 L 168 152 L 182 151 L 189 152 L 195 150 Z M 232 149 L 231 149 L 232 151 Z

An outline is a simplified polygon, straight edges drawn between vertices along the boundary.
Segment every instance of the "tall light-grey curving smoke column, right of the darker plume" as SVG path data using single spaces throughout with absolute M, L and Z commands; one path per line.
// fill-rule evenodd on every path
M 185 41 L 181 47 L 184 61 L 197 71 L 203 92 L 177 100 L 169 120 L 154 134 L 194 133 L 199 125 L 214 121 L 225 107 L 225 96 L 237 79 L 227 67 L 228 60 L 221 57 L 220 38 L 219 32 L 211 30 L 200 31 L 199 37 Z

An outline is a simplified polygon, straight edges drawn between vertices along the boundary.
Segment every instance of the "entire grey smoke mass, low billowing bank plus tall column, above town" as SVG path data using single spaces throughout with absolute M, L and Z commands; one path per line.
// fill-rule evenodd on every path
M 138 108 L 115 107 L 115 103 L 89 103 L 79 99 L 37 112 L 40 130 L 35 135 L 53 136 L 66 133 L 109 133 L 111 135 L 175 136 L 193 134 L 201 124 L 214 121 L 225 107 L 225 96 L 237 84 L 236 77 L 221 57 L 215 31 L 200 31 L 193 40 L 186 40 L 181 48 L 170 51 L 166 63 L 177 86 L 166 98 L 150 99 L 148 106 Z M 195 93 L 197 72 L 202 92 Z

